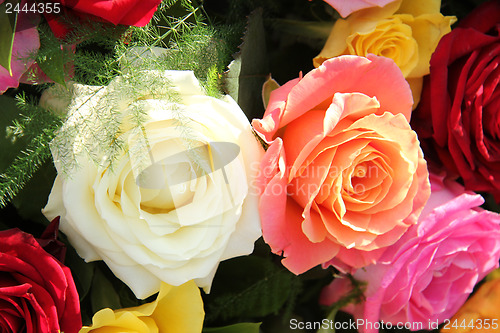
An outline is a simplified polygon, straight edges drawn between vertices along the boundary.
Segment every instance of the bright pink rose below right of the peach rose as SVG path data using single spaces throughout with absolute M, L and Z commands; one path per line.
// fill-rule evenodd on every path
M 365 299 L 345 310 L 364 320 L 361 331 L 376 332 L 379 320 L 407 323 L 412 330 L 435 329 L 498 267 L 500 215 L 479 208 L 483 198 L 464 192 L 458 183 L 443 184 L 431 176 L 431 186 L 419 223 L 378 263 L 354 273 L 367 282 Z M 334 280 L 320 302 L 334 303 L 346 287 L 345 279 Z

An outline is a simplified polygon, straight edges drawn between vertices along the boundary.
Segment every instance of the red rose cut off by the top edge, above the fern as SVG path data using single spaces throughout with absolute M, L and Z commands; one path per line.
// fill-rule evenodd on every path
M 60 19 L 59 13 L 76 15 L 86 20 L 110 22 L 115 25 L 143 27 L 151 21 L 161 0 L 58 0 L 52 3 L 51 13 L 45 12 L 50 28 L 57 37 L 64 37 L 70 27 Z

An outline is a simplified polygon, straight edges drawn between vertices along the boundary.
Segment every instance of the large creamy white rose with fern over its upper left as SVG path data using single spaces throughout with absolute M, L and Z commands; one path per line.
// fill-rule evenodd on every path
M 148 87 L 134 100 L 123 92 L 117 105 L 128 145 L 112 168 L 78 155 L 87 142 L 77 138 L 78 168 L 64 175 L 54 145 L 59 174 L 43 209 L 49 220 L 61 216 L 61 230 L 80 256 L 105 261 L 139 298 L 157 292 L 161 281 L 195 279 L 209 288 L 221 260 L 253 251 L 261 229 L 253 186 L 258 167 L 251 166 L 264 153 L 229 96 L 206 96 L 189 71 L 147 75 L 173 87 L 178 100 Z M 120 80 L 101 88 L 74 85 L 66 123 L 96 113 Z M 137 107 L 148 116 L 144 131 L 126 125 Z

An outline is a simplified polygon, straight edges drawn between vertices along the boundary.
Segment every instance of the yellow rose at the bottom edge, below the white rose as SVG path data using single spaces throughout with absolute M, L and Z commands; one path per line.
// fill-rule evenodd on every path
M 179 287 L 163 283 L 154 302 L 102 309 L 92 318 L 92 326 L 84 326 L 80 333 L 199 333 L 204 316 L 200 290 L 193 281 Z

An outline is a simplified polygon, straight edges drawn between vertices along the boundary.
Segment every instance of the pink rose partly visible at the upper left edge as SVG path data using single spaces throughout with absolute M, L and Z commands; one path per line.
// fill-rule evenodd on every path
M 3 2 L 0 0 L 0 3 Z M 25 1 L 21 3 L 21 6 L 24 3 Z M 0 94 L 3 94 L 9 88 L 18 87 L 22 75 L 35 62 L 36 53 L 40 48 L 40 40 L 36 29 L 38 20 L 39 17 L 36 14 L 22 11 L 19 13 L 12 49 L 12 75 L 6 68 L 0 66 Z

